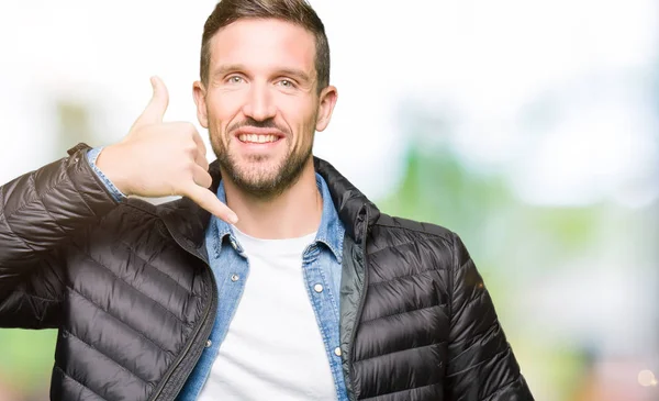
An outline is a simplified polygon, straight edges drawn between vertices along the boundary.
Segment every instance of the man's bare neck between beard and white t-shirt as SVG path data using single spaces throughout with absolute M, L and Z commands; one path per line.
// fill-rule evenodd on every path
M 321 224 L 323 199 L 316 186 L 311 157 L 300 178 L 276 198 L 255 198 L 230 179 L 224 179 L 224 190 L 226 204 L 239 219 L 236 227 L 249 236 L 294 238 L 313 233 Z

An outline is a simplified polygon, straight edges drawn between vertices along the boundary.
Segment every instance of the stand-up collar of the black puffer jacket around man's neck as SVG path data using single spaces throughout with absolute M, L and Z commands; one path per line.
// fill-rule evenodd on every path
M 314 167 L 327 185 L 332 202 L 344 224 L 346 234 L 357 244 L 361 244 L 368 235 L 369 227 L 380 216 L 380 211 L 330 163 L 314 157 Z M 209 174 L 213 178 L 210 190 L 217 193 L 221 182 L 217 160 L 211 163 Z M 181 246 L 208 259 L 204 249 L 204 235 L 211 221 L 211 213 L 188 198 L 164 203 L 157 209 L 158 214 L 175 240 Z

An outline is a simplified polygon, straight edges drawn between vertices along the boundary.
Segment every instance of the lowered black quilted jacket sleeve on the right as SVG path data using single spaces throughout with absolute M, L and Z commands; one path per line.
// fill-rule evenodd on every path
M 447 400 L 530 401 L 492 299 L 461 240 L 454 236 Z

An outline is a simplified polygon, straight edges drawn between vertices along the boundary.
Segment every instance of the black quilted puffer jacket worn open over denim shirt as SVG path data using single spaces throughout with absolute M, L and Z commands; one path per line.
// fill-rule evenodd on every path
M 58 328 L 53 400 L 174 400 L 217 307 L 210 215 L 188 199 L 116 204 L 86 149 L 0 188 L 0 326 Z M 315 166 L 346 226 L 351 399 L 533 400 L 460 240 L 380 213 L 331 165 Z

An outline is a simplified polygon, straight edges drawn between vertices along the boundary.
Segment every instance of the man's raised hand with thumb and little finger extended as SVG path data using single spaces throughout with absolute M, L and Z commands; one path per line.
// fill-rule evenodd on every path
M 236 214 L 208 188 L 206 149 L 189 122 L 163 122 L 169 94 L 152 78 L 154 94 L 129 134 L 101 152 L 97 166 L 123 193 L 141 197 L 183 196 L 227 223 Z

